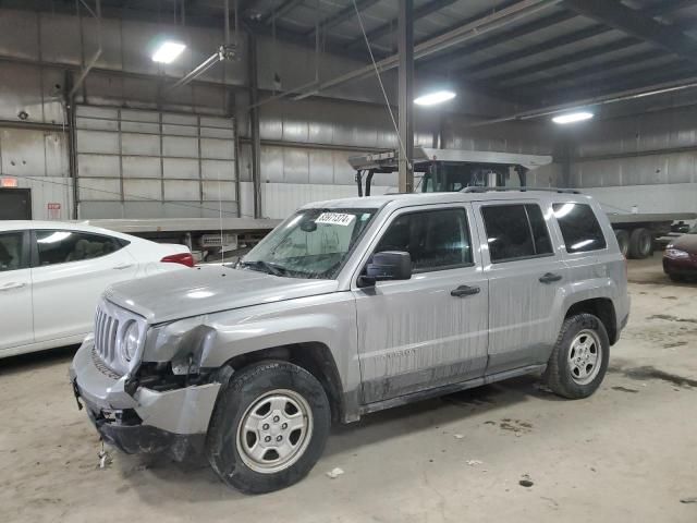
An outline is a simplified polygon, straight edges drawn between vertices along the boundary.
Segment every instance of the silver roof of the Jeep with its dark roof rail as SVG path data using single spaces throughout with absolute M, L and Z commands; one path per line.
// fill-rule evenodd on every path
M 329 199 L 314 202 L 303 206 L 303 209 L 378 209 L 388 204 L 396 203 L 399 207 L 412 205 L 449 204 L 457 202 L 519 202 L 524 199 L 537 199 L 542 202 L 588 202 L 591 196 L 578 193 L 560 193 L 557 191 L 490 191 L 486 193 L 412 193 L 412 194 L 384 194 L 381 196 L 365 196 L 354 198 Z

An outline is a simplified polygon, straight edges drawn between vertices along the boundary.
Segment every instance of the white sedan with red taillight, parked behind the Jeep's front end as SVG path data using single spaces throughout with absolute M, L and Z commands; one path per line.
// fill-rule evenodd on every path
M 73 223 L 0 221 L 0 357 L 78 343 L 111 283 L 193 265 L 184 245 Z

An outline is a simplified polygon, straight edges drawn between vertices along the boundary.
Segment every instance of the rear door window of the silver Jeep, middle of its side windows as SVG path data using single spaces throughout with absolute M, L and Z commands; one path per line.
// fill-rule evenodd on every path
M 553 254 L 538 205 L 488 205 L 481 216 L 492 263 Z

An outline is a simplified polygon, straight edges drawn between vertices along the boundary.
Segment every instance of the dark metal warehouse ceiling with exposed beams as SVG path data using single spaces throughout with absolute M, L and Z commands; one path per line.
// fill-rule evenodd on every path
M 223 0 L 184 3 L 186 25 L 222 29 Z M 163 5 L 172 2 L 101 4 L 105 17 L 161 23 Z M 395 52 L 399 4 L 355 0 L 377 60 Z M 314 49 L 319 26 L 325 53 L 367 63 L 354 0 L 237 0 L 234 5 L 255 34 Z M 5 0 L 3 7 L 75 13 L 74 0 Z M 487 25 L 509 11 L 515 15 Z M 697 75 L 694 1 L 414 0 L 413 19 L 417 45 L 472 27 L 466 38 L 418 57 L 419 77 L 441 75 L 522 109 Z

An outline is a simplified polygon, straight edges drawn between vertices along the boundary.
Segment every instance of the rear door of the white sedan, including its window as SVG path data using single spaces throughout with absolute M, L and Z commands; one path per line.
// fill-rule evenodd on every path
M 125 242 L 75 230 L 33 234 L 33 297 L 36 341 L 91 331 L 97 300 L 111 283 L 135 277 Z

